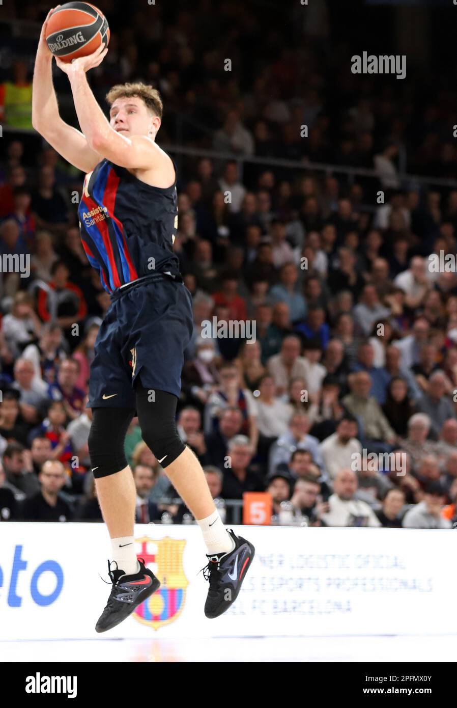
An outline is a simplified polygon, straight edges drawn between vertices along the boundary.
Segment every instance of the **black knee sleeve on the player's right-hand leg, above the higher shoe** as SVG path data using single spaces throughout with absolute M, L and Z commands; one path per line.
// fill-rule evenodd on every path
M 162 467 L 167 467 L 185 450 L 185 444 L 176 430 L 178 399 L 166 391 L 144 389 L 141 384 L 135 387 L 135 392 L 141 438 Z

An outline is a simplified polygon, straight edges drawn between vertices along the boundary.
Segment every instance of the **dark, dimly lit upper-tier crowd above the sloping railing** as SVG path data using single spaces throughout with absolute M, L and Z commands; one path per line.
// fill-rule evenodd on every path
M 429 67 L 421 72 L 408 55 L 402 81 L 352 74 L 359 36 L 352 17 L 330 10 L 326 0 L 314 8 L 278 0 L 196 0 L 192 8 L 184 0 L 170 6 L 132 0 L 127 21 L 125 6 L 115 0 L 97 5 L 111 38 L 103 64 L 91 72 L 93 90 L 103 103 L 114 84 L 154 85 L 166 109 L 163 143 L 376 169 L 389 187 L 400 186 L 399 159 L 410 174 L 457 178 L 452 67 L 446 73 L 442 62 L 438 75 Z M 4 4 L 5 47 L 8 22 L 36 23 L 38 31 L 48 10 L 49 3 L 35 0 Z M 375 54 L 378 31 L 376 23 L 364 26 Z M 0 61 L 0 117 L 31 128 L 25 103 L 36 39 L 30 29 L 18 34 Z M 55 66 L 54 79 L 64 118 L 74 121 L 69 83 Z

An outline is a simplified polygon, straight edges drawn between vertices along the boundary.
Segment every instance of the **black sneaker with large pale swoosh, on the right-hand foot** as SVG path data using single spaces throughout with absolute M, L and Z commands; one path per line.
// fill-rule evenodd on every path
M 207 554 L 208 565 L 202 568 L 204 579 L 209 580 L 204 614 L 210 619 L 219 617 L 233 605 L 255 554 L 253 544 L 236 536 L 231 529 L 228 534 L 235 542 L 233 551 Z

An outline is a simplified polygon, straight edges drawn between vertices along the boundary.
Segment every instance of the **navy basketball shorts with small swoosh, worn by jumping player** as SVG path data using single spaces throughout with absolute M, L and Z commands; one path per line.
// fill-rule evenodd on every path
M 111 296 L 96 338 L 88 408 L 136 409 L 137 377 L 146 389 L 180 396 L 192 297 L 183 282 L 157 276 Z

